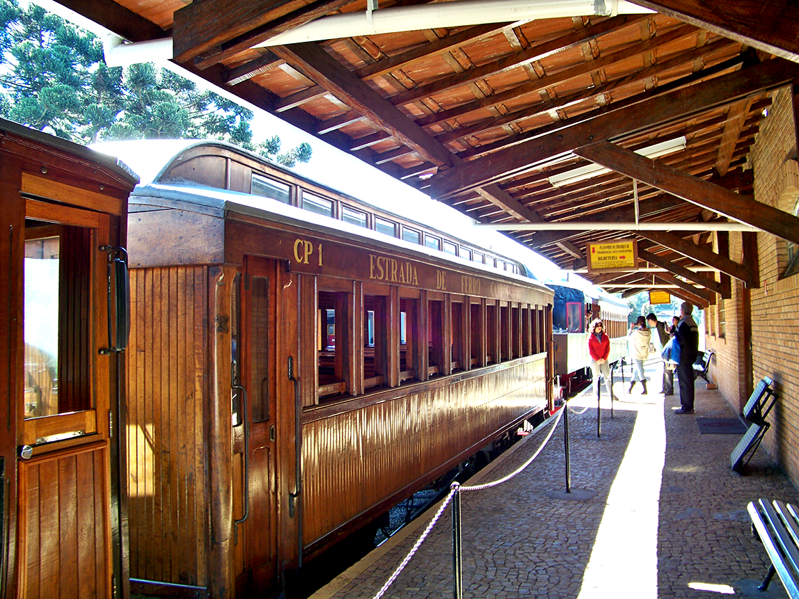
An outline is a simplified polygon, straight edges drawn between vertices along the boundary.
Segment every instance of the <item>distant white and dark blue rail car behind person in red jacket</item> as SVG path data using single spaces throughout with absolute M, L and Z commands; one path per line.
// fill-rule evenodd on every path
M 586 290 L 562 282 L 547 284 L 555 292 L 552 307 L 552 341 L 555 375 L 568 393 L 571 384 L 590 379 L 587 325 L 601 318 L 610 337 L 610 363 L 627 354 L 627 316 L 630 307 L 622 300 L 596 289 Z

